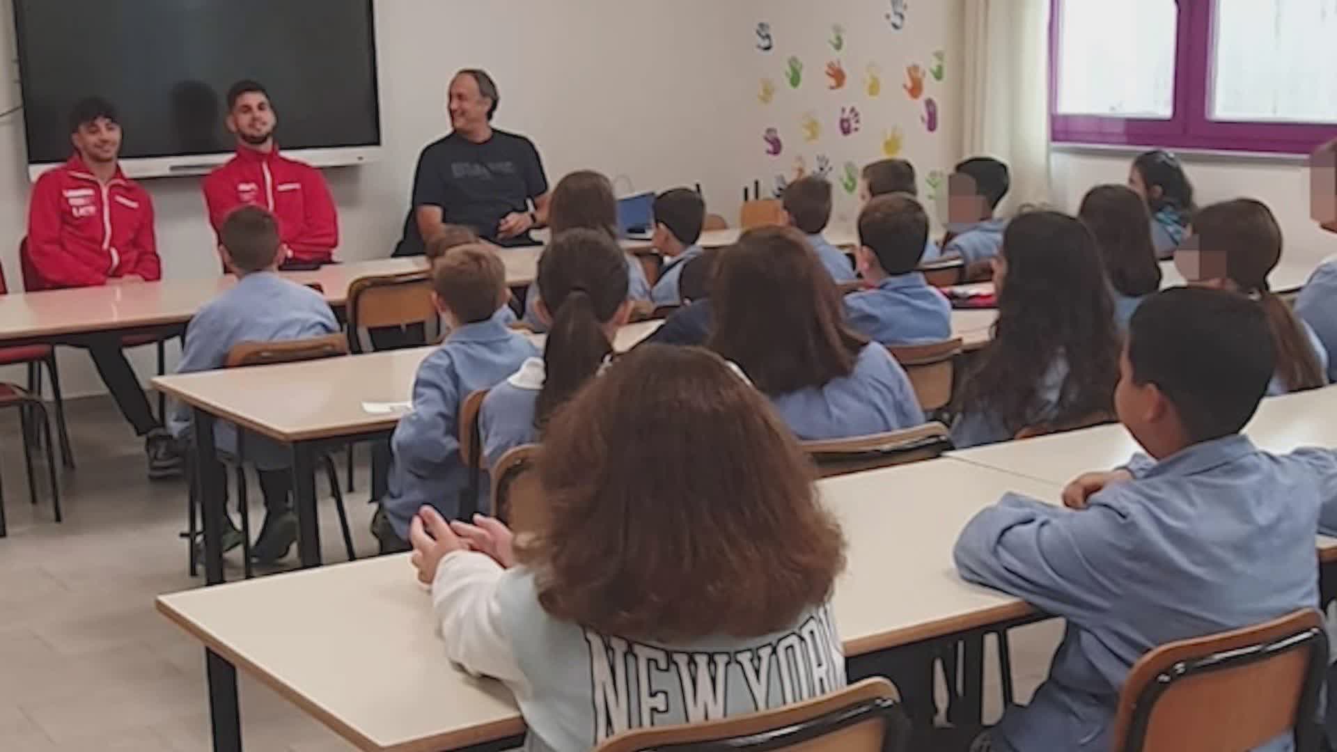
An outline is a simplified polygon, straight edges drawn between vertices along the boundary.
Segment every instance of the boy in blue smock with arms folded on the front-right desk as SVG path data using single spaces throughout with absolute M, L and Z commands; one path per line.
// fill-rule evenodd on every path
M 1239 431 L 1275 369 L 1262 309 L 1177 288 L 1134 314 L 1115 393 L 1147 455 L 1087 474 L 1070 508 L 1015 494 L 961 531 L 956 566 L 1067 620 L 1048 680 L 977 748 L 1110 748 L 1128 670 L 1166 642 L 1257 625 L 1318 603 L 1314 534 L 1328 450 L 1273 456 Z M 1261 749 L 1292 748 L 1289 735 Z

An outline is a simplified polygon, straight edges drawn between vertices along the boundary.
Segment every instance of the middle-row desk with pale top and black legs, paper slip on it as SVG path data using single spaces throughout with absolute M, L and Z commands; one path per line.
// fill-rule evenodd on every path
M 654 333 L 660 321 L 619 332 L 615 343 L 630 349 Z M 215 420 L 227 420 L 291 447 L 294 507 L 299 521 L 302 566 L 321 563 L 316 514 L 314 462 L 322 448 L 349 440 L 389 438 L 398 423 L 393 412 L 370 413 L 364 403 L 404 403 L 413 393 L 418 365 L 436 348 L 413 348 L 255 368 L 231 368 L 159 376 L 155 388 L 194 408 L 194 439 L 201 458 L 201 506 L 205 531 L 205 577 L 223 581 L 219 523 L 223 515 L 222 470 L 215 456 Z M 293 384 L 301 388 L 290 388 Z

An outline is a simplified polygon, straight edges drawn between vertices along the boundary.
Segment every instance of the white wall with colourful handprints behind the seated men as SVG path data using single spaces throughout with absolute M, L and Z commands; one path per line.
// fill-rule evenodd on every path
M 0 82 L 0 106 L 17 103 L 13 28 L 3 3 L 0 47 L 9 75 Z M 362 167 L 329 170 L 340 206 L 340 257 L 388 256 L 408 210 L 409 182 L 418 151 L 448 130 L 444 91 L 461 67 L 483 67 L 497 79 L 501 106 L 496 124 L 529 135 L 550 179 L 592 167 L 630 181 L 635 190 L 701 183 L 711 211 L 737 218 L 742 187 L 789 173 L 794 157 L 808 169 L 824 154 L 836 166 L 881 157 L 884 131 L 905 134 L 904 155 L 921 173 L 941 170 L 957 157 L 960 0 L 919 3 L 905 28 L 885 17 L 885 0 L 378 0 L 377 51 L 384 155 Z M 774 50 L 761 52 L 757 24 L 773 27 Z M 846 29 L 846 47 L 829 47 L 832 25 Z M 941 128 L 928 134 L 923 102 L 902 90 L 910 63 L 932 66 L 944 51 L 947 76 L 927 82 L 939 102 Z M 792 90 L 785 60 L 800 56 L 805 80 Z M 826 63 L 840 59 L 849 72 L 842 91 L 830 91 Z M 868 95 L 869 64 L 881 70 L 882 91 Z M 262 74 L 258 74 L 263 79 Z M 777 84 L 771 106 L 758 100 L 762 78 Z M 782 88 L 781 88 L 782 87 Z M 282 140 L 283 103 L 275 103 Z M 857 106 L 862 126 L 838 135 L 841 107 Z M 802 139 L 808 111 L 822 120 L 822 138 Z M 777 127 L 786 140 L 779 158 L 765 155 L 762 132 Z M 28 179 L 23 119 L 0 122 L 0 262 L 19 285 L 17 242 L 24 233 Z M 158 214 L 158 245 L 168 278 L 217 274 L 214 238 L 205 219 L 198 178 L 146 182 Z M 852 221 L 854 198 L 840 194 L 838 221 Z M 151 352 L 134 356 L 142 375 Z M 68 395 L 100 391 L 87 357 L 62 351 Z M 19 379 L 0 369 L 0 379 Z

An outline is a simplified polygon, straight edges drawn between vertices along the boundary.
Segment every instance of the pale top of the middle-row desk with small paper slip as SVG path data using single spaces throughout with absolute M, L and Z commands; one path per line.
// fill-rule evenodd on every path
M 618 333 L 615 347 L 630 349 L 662 324 L 626 326 Z M 362 403 L 408 401 L 418 365 L 433 349 L 158 376 L 152 384 L 175 399 L 278 442 L 353 436 L 394 428 L 397 415 L 369 413 Z

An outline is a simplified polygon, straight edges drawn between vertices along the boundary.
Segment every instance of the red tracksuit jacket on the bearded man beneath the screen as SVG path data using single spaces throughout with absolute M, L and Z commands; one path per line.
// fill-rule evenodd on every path
M 338 213 L 320 170 L 273 151 L 237 149 L 237 157 L 205 178 L 209 222 L 217 234 L 238 206 L 263 206 L 278 218 L 278 234 L 293 261 L 334 260 Z

